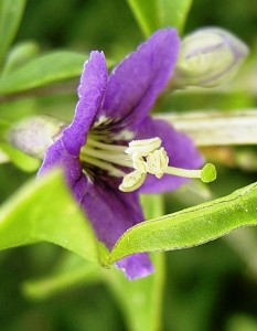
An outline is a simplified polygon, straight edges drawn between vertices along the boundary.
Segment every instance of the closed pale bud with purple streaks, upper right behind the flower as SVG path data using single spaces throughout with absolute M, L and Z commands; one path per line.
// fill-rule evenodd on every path
M 179 88 L 218 86 L 231 78 L 247 54 L 247 46 L 223 29 L 196 30 L 182 40 L 171 84 Z

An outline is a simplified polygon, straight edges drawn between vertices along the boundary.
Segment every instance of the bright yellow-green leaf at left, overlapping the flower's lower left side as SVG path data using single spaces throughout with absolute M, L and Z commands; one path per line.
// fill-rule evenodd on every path
M 39 242 L 98 263 L 94 232 L 58 171 L 30 182 L 0 210 L 0 249 Z

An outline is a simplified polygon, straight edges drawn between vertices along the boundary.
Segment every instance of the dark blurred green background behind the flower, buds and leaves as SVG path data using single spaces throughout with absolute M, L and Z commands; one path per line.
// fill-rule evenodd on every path
M 178 93 L 163 102 L 161 111 L 256 107 L 257 84 L 253 77 L 257 74 L 257 1 L 194 0 L 184 31 L 205 25 L 225 28 L 244 40 L 251 50 L 247 63 L 225 92 Z M 117 61 L 143 36 L 126 1 L 28 0 L 15 42 L 28 40 L 35 41 L 42 53 L 66 49 L 88 54 L 94 49 L 104 50 L 107 58 Z M 10 103 L 10 111 L 0 106 L 0 115 L 18 119 L 46 113 L 69 119 L 76 103 L 76 84 L 75 79 L 61 93 L 46 92 L 36 98 Z M 205 192 L 207 197 L 222 196 L 256 180 L 256 161 L 247 167 L 237 162 L 235 156 L 242 151 L 254 154 L 256 160 L 254 147 L 227 150 L 225 160 L 217 160 L 219 178 Z M 1 166 L 0 202 L 31 177 L 34 174 L 14 166 Z M 197 188 L 189 190 L 167 194 L 165 212 L 206 199 Z M 23 281 L 47 275 L 66 254 L 51 244 L 0 252 L 1 331 L 127 330 L 118 303 L 103 282 L 81 284 L 38 301 L 22 293 Z M 167 253 L 165 258 L 161 330 L 257 331 L 255 228 L 237 231 L 200 247 Z

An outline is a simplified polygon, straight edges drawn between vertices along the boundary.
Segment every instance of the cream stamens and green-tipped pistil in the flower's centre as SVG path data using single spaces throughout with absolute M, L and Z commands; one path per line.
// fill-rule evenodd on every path
M 85 163 L 85 168 L 93 166 L 111 177 L 121 177 L 119 190 L 122 192 L 139 189 L 147 173 L 156 175 L 157 179 L 161 179 L 165 173 L 199 178 L 203 182 L 211 182 L 216 178 L 215 167 L 211 163 L 206 163 L 200 170 L 169 167 L 169 157 L 159 137 L 132 140 L 128 146 L 108 145 L 97 138 L 96 136 L 88 137 L 86 145 L 81 149 L 81 161 Z M 128 169 L 132 171 L 128 173 Z

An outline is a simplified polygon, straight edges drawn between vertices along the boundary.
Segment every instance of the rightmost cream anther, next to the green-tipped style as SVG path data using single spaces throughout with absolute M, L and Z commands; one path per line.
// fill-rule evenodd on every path
M 168 164 L 169 157 L 163 147 L 147 157 L 147 172 L 154 174 L 158 179 L 162 178 Z

